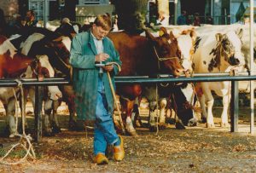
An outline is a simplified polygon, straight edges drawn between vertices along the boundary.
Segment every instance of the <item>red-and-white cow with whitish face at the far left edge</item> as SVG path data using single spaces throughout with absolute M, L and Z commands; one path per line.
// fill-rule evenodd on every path
M 51 75 L 51 66 L 49 66 L 48 58 L 38 57 L 39 66 L 38 63 L 34 63 L 34 61 L 37 61 L 37 59 L 17 53 L 17 49 L 10 43 L 9 39 L 0 36 L 0 78 L 20 78 L 20 75 L 29 78 L 32 74 L 35 74 L 33 65 L 37 65 L 39 75 L 43 75 L 42 72 L 47 76 Z M 49 89 L 56 90 L 55 88 Z M 16 132 L 14 118 L 16 100 L 13 89 L 10 87 L 1 88 L 0 97 L 6 109 L 10 136 L 14 136 Z

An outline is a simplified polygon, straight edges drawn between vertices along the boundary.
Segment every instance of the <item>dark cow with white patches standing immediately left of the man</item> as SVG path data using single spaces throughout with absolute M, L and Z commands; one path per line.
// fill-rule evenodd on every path
M 47 55 L 49 57 L 49 62 L 51 66 L 54 67 L 56 72 L 56 77 L 70 78 L 70 64 L 69 64 L 69 51 L 71 45 L 71 38 L 74 31 L 69 27 L 65 30 L 65 27 L 58 29 L 58 33 L 55 32 L 45 32 L 44 30 L 32 31 L 31 35 L 26 38 L 24 43 L 20 44 L 20 51 L 27 55 Z M 61 33 L 63 32 L 63 34 Z M 68 37 L 66 37 L 67 35 Z M 62 92 L 62 101 L 67 103 L 70 116 L 69 116 L 69 127 L 75 128 L 75 107 L 74 107 L 74 92 L 72 85 L 59 86 Z M 48 102 L 49 103 L 49 102 Z M 54 124 L 55 129 L 58 132 L 60 129 L 56 111 L 60 105 L 59 101 L 51 99 L 49 104 L 44 104 L 44 106 L 49 106 L 45 110 L 45 122 L 49 122 L 48 119 L 51 118 L 50 113 L 53 108 L 53 120 L 50 120 L 51 124 Z M 49 126 L 48 126 L 49 127 Z M 46 128 L 49 130 L 49 128 Z M 49 131 L 50 133 L 50 131 Z

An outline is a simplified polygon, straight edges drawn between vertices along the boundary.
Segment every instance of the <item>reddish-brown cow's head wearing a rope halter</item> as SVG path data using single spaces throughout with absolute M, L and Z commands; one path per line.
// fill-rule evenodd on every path
M 177 47 L 177 39 L 172 32 L 167 33 L 166 28 L 160 28 L 160 36 L 154 37 L 150 32 L 146 31 L 146 37 L 152 41 L 154 45 L 154 54 L 157 57 L 160 71 L 172 73 L 178 77 L 183 73 L 183 66 L 180 64 L 180 51 Z M 165 68 L 165 69 L 161 69 Z

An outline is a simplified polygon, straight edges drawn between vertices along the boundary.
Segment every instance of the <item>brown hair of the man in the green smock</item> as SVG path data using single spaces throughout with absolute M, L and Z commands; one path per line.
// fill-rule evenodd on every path
M 102 26 L 102 29 L 106 31 L 111 30 L 111 27 L 112 27 L 111 16 L 108 13 L 98 14 L 93 23 L 96 24 L 96 26 Z

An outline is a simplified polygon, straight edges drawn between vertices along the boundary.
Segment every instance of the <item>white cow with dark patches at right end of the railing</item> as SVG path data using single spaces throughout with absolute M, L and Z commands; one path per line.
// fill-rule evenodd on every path
M 195 45 L 195 72 L 230 72 L 232 68 L 245 65 L 245 57 L 241 52 L 243 30 L 207 31 L 199 33 Z M 211 78 L 211 77 L 209 77 Z M 200 83 L 203 95 L 199 97 L 202 116 L 207 119 L 207 127 L 213 127 L 212 106 L 214 99 L 212 90 L 223 97 L 224 109 L 221 115 L 221 125 L 228 124 L 228 107 L 230 103 L 230 82 Z M 207 106 L 207 109 L 206 109 Z

